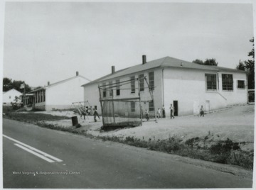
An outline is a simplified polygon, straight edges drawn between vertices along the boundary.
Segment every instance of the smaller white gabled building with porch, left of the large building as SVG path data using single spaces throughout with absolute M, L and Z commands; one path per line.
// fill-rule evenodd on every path
M 48 82 L 47 86 L 29 92 L 33 94 L 33 108 L 46 111 L 70 108 L 73 102 L 83 101 L 81 85 L 87 82 L 90 80 L 82 77 L 78 72 L 75 77 L 54 84 Z

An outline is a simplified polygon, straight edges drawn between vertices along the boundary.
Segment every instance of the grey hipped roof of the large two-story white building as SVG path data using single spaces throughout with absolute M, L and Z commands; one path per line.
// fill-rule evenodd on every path
M 230 69 L 225 67 L 218 67 L 218 66 L 210 66 L 210 65 L 199 65 L 197 63 L 193 62 L 187 62 L 184 60 L 178 60 L 174 57 L 163 57 L 158 60 L 152 60 L 149 62 L 146 62 L 145 64 L 139 64 L 134 65 L 132 67 L 128 67 L 122 70 L 119 70 L 117 72 L 114 72 L 113 74 L 107 74 L 104 77 L 100 77 L 99 79 L 95 79 L 92 82 L 89 82 L 87 84 L 83 84 L 82 86 L 87 86 L 89 84 L 94 84 L 96 82 L 102 82 L 108 79 L 114 79 L 117 77 L 122 77 L 127 74 L 132 74 L 136 72 L 142 72 L 144 70 L 148 69 L 154 69 L 154 68 L 160 68 L 160 67 L 176 67 L 179 69 L 201 69 L 201 70 L 210 70 L 215 72 L 242 72 L 245 73 L 245 71 L 237 70 L 237 69 Z

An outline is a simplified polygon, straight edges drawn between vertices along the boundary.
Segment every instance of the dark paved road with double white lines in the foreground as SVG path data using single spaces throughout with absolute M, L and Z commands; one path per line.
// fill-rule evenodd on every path
M 4 188 L 252 187 L 250 179 L 171 155 L 18 121 L 4 119 L 3 134 Z

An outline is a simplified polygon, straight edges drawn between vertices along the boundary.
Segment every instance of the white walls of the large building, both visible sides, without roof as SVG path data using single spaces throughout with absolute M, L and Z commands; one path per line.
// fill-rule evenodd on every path
M 101 82 L 102 84 L 109 84 L 110 81 L 115 83 L 117 79 L 127 81 L 130 77 L 139 77 L 139 74 L 144 74 L 149 82 L 149 72 L 154 71 L 154 111 L 150 111 L 149 115 L 154 116 L 158 108 L 164 105 L 166 109 L 166 117 L 170 116 L 170 104 L 178 101 L 178 116 L 198 114 L 201 106 L 206 112 L 213 111 L 233 104 L 247 103 L 247 86 L 244 89 L 238 89 L 238 80 L 244 80 L 247 84 L 247 77 L 245 73 L 238 72 L 215 72 L 198 69 L 184 69 L 184 68 L 158 68 L 146 70 L 144 72 L 137 72 L 129 74 L 124 77 Z M 216 74 L 217 89 L 207 90 L 206 74 Z M 233 74 L 233 91 L 225 91 L 222 87 L 222 74 Z M 116 95 L 114 90 L 113 99 L 124 99 L 138 96 L 138 82 L 135 82 L 136 91 L 131 93 L 130 83 L 124 84 L 121 89 L 128 89 L 120 91 L 120 95 Z M 151 100 L 149 89 L 144 83 L 144 91 L 141 91 L 141 99 Z M 93 94 L 93 96 L 92 96 Z M 103 96 L 103 94 L 101 94 Z M 107 98 L 110 99 L 109 91 L 107 91 Z M 89 101 L 92 105 L 97 105 L 98 112 L 101 113 L 100 95 L 98 91 L 98 84 L 90 84 L 84 88 L 84 101 Z M 137 107 L 136 109 L 139 109 Z M 142 109 L 149 110 L 149 104 L 142 102 Z M 122 112 L 122 108 L 120 108 Z

